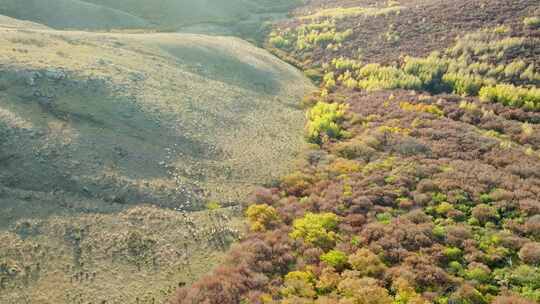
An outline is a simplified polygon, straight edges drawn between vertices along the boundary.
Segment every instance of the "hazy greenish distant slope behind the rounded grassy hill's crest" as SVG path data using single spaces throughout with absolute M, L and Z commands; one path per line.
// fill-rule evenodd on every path
M 157 29 L 209 23 L 255 35 L 299 0 L 0 0 L 0 14 L 56 29 Z

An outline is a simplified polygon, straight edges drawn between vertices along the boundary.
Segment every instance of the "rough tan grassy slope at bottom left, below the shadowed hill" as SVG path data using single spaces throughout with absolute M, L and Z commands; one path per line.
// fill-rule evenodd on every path
M 21 220 L 0 232 L 0 303 L 160 303 L 219 264 L 240 229 L 231 210 L 151 206 Z

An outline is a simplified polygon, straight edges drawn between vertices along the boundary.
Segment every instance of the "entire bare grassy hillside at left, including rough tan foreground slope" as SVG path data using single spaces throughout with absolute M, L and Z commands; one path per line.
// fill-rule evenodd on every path
M 0 303 L 167 298 L 305 146 L 311 84 L 240 39 L 0 21 Z

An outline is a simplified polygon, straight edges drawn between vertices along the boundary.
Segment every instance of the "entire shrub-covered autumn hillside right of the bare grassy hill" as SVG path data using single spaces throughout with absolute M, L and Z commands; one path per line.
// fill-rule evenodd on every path
M 320 84 L 312 151 L 171 303 L 540 302 L 535 1 L 315 0 L 275 54 Z

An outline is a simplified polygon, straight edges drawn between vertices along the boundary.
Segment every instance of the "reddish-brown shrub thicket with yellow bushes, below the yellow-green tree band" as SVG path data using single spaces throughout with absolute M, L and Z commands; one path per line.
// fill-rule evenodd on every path
M 256 191 L 231 261 L 175 303 L 540 301 L 540 115 L 400 90 L 324 104 L 343 94 L 348 138 Z

